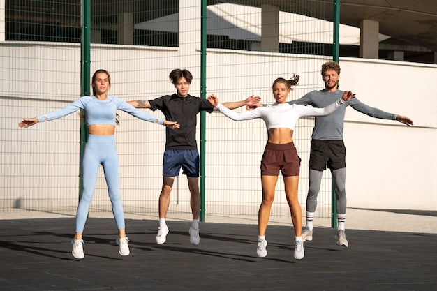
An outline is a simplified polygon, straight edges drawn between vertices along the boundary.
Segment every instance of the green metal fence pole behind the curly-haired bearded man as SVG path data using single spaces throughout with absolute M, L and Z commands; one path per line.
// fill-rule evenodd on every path
M 339 62 L 340 57 L 340 0 L 334 0 L 334 41 L 332 60 Z M 334 180 L 331 181 L 331 227 L 337 227 L 336 194 Z

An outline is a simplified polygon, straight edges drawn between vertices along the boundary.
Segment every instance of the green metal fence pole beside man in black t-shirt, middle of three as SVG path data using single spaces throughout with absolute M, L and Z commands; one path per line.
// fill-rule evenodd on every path
M 200 97 L 206 98 L 207 0 L 202 0 L 200 24 Z M 205 221 L 205 137 L 206 113 L 200 112 L 200 221 Z

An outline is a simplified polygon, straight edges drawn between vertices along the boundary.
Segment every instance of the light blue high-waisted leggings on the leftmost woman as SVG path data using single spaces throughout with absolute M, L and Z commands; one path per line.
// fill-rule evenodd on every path
M 120 173 L 114 135 L 89 135 L 82 161 L 84 189 L 76 214 L 76 232 L 83 232 L 89 204 L 93 199 L 98 167 L 102 165 L 118 229 L 124 229 L 123 205 L 120 198 Z

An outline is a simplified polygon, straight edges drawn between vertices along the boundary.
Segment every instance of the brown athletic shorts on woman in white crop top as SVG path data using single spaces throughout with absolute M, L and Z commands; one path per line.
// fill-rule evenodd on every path
M 300 158 L 295 144 L 272 144 L 267 142 L 261 158 L 261 175 L 278 176 L 281 170 L 284 177 L 299 176 Z

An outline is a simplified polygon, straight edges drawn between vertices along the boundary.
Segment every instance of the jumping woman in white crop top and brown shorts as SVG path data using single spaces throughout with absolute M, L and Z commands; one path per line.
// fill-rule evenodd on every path
M 295 252 L 296 259 L 304 258 L 304 244 L 302 241 L 302 209 L 297 199 L 297 188 L 299 185 L 300 158 L 297 156 L 295 145 L 293 144 L 292 132 L 295 124 L 300 117 L 324 116 L 331 114 L 343 103 L 354 98 L 355 95 L 346 91 L 343 97 L 335 103 L 325 108 L 313 108 L 303 105 L 290 105 L 286 103 L 286 98 L 292 86 L 299 81 L 299 75 L 295 75 L 292 80 L 278 78 L 272 85 L 272 91 L 276 103 L 257 107 L 254 110 L 245 112 L 235 112 L 228 110 L 220 103 L 214 95 L 208 97 L 212 105 L 216 106 L 223 114 L 235 121 L 260 118 L 265 121 L 267 127 L 268 140 L 261 160 L 261 184 L 262 202 L 258 212 L 258 248 L 259 257 L 267 255 L 267 240 L 265 232 L 269 222 L 270 209 L 274 200 L 274 191 L 278 181 L 279 170 L 283 174 L 285 191 L 288 206 L 290 207 L 292 223 L 295 228 Z

